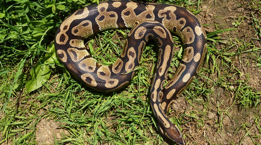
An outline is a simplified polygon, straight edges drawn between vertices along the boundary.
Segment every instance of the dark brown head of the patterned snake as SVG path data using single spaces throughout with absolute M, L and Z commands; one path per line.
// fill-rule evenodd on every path
M 186 145 L 186 140 L 183 138 L 183 134 L 184 132 L 188 131 L 188 129 L 184 129 L 181 132 L 178 126 L 174 123 L 172 123 L 169 128 L 165 128 L 160 125 L 157 126 L 160 133 L 168 140 L 172 140 L 179 145 Z

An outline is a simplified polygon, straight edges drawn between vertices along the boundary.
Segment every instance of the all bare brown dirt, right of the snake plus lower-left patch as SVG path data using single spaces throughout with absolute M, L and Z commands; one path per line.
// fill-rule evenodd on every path
M 203 24 L 212 24 L 205 26 L 206 32 L 213 32 L 215 31 L 215 27 L 228 29 L 234 28 L 232 25 L 233 22 L 238 20 L 239 16 L 244 16 L 241 24 L 238 26 L 236 30 L 232 30 L 229 32 L 224 32 L 221 36 L 225 40 L 230 38 L 229 41 L 235 41 L 235 39 L 241 39 L 245 42 L 250 43 L 251 41 L 254 42 L 256 47 L 261 47 L 260 42 L 258 40 L 254 40 L 252 38 L 258 38 L 256 33 L 251 28 L 252 22 L 250 20 L 251 15 L 251 8 L 249 7 L 248 3 L 250 1 L 240 1 L 240 0 L 203 0 L 203 6 L 200 9 L 203 9 L 197 17 Z M 241 19 L 240 19 L 241 21 Z M 218 49 L 223 47 L 227 47 L 226 44 L 218 44 Z M 238 47 L 238 46 L 234 46 Z M 249 46 L 246 49 L 250 49 Z M 236 48 L 235 48 L 236 49 Z M 233 49 L 231 49 L 233 51 Z M 240 70 L 242 73 L 249 73 L 250 80 L 249 85 L 251 87 L 256 88 L 256 90 L 261 90 L 261 70 L 256 69 L 256 64 L 252 64 L 250 68 L 241 66 L 238 62 L 238 58 L 234 58 L 232 60 L 236 68 Z M 242 60 L 245 61 L 245 60 Z M 203 66 L 206 67 L 206 66 Z M 222 70 L 222 69 L 221 69 Z M 215 79 L 215 76 L 210 76 L 211 79 Z M 242 78 L 244 79 L 244 78 Z M 233 81 L 233 80 L 231 80 Z M 254 120 L 255 117 L 260 117 L 261 111 L 260 106 L 252 107 L 252 108 L 240 108 L 233 100 L 234 95 L 233 93 L 226 92 L 223 88 L 214 88 L 214 94 L 210 96 L 210 104 L 209 108 L 214 108 L 213 111 L 210 111 L 207 116 L 205 116 L 204 124 L 205 126 L 193 126 L 193 124 L 186 123 L 183 128 L 190 128 L 189 132 L 186 132 L 187 140 L 191 144 L 241 144 L 250 145 L 252 144 L 252 138 L 248 135 L 251 134 L 252 136 L 261 135 L 259 132 L 259 128 L 256 125 Z M 228 99 L 228 98 L 232 99 Z M 207 98 L 204 98 L 207 99 Z M 217 102 L 224 101 L 226 105 L 219 106 L 220 110 L 225 110 L 223 113 L 227 115 L 220 115 L 217 113 Z M 190 106 L 188 107 L 188 102 L 185 100 L 184 97 L 180 97 L 177 99 L 172 106 L 174 110 L 180 110 L 180 112 L 175 112 L 175 114 L 171 114 L 170 116 L 175 116 L 178 114 L 183 114 L 184 110 L 191 111 L 195 110 L 194 108 L 197 107 L 198 109 L 204 110 L 202 104 L 195 104 L 195 107 Z M 217 126 L 217 121 L 222 118 L 222 126 Z M 251 128 L 241 126 L 241 124 L 250 124 Z M 44 126 L 44 127 L 43 127 Z M 37 125 L 38 131 L 36 132 L 38 144 L 51 144 L 53 139 L 53 134 L 59 138 L 62 136 L 61 132 L 65 132 L 65 130 L 61 131 L 61 128 L 57 125 L 57 123 L 52 122 L 51 120 L 48 121 L 41 121 Z M 247 130 L 246 130 L 247 129 Z M 47 132 L 46 132 L 47 131 Z M 241 141 L 240 141 L 241 140 Z M 255 139 L 256 143 L 261 143 L 261 138 Z M 194 143 L 193 143 L 194 142 Z

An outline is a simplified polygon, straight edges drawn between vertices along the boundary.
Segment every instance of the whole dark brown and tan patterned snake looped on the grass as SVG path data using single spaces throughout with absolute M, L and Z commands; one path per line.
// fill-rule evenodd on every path
M 119 58 L 110 66 L 92 58 L 85 48 L 88 36 L 109 28 L 132 28 Z M 163 88 L 173 55 L 170 32 L 184 44 L 184 55 L 172 79 Z M 158 44 L 158 62 L 150 89 L 150 105 L 158 131 L 165 138 L 185 145 L 183 133 L 166 113 L 194 79 L 206 50 L 206 33 L 200 21 L 187 9 L 166 3 L 109 0 L 88 5 L 69 15 L 55 34 L 57 56 L 77 79 L 103 92 L 127 85 L 135 75 L 149 39 Z

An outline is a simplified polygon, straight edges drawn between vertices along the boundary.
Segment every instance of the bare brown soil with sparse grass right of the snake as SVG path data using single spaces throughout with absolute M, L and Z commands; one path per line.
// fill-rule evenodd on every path
M 255 38 L 259 38 L 253 30 L 252 26 L 252 13 L 255 15 L 258 12 L 252 10 L 249 6 L 250 1 L 239 0 L 203 0 L 203 6 L 197 17 L 203 24 L 211 24 L 205 26 L 207 32 L 213 32 L 218 29 L 235 28 L 233 25 L 235 22 L 240 22 L 236 27 L 236 30 L 223 33 L 221 36 L 224 40 L 236 44 L 238 40 L 242 44 L 236 44 L 229 49 L 230 52 L 236 52 L 240 48 L 244 48 L 243 51 L 253 49 L 253 46 L 246 44 L 254 44 L 255 47 L 260 47 L 260 42 Z M 260 16 L 260 11 L 259 14 Z M 218 44 L 217 49 L 230 47 L 229 43 Z M 245 47 L 246 46 L 246 47 Z M 231 65 L 234 65 L 236 69 L 241 72 L 241 75 L 235 75 L 232 79 L 227 80 L 228 83 L 234 83 L 234 80 L 248 81 L 248 85 L 261 90 L 261 70 L 256 68 L 256 58 L 248 57 L 250 53 L 244 53 L 241 57 L 232 58 Z M 210 66 L 212 62 L 209 63 Z M 245 65 L 244 65 L 245 64 Z M 206 67 L 206 65 L 205 65 Z M 222 66 L 219 66 L 222 71 Z M 217 79 L 217 75 L 209 76 L 212 80 Z M 211 86 L 210 86 L 211 87 Z M 230 86 L 237 87 L 237 86 Z M 178 114 L 191 113 L 192 111 L 205 111 L 207 116 L 200 116 L 204 123 L 204 126 L 198 126 L 191 121 L 184 124 L 183 128 L 190 128 L 187 134 L 189 144 L 246 144 L 250 145 L 260 143 L 260 138 L 254 136 L 260 136 L 260 127 L 256 122 L 257 118 L 260 118 L 260 105 L 247 106 L 246 108 L 240 107 L 238 100 L 235 100 L 236 94 L 226 90 L 224 87 L 214 88 L 214 94 L 210 96 L 210 99 L 206 99 L 209 102 L 208 108 L 203 108 L 200 103 L 193 103 L 193 106 L 189 106 L 188 101 L 184 97 L 180 97 L 175 101 L 172 109 L 175 110 L 174 114 L 170 116 L 178 116 Z M 180 111 L 180 112 L 178 112 Z

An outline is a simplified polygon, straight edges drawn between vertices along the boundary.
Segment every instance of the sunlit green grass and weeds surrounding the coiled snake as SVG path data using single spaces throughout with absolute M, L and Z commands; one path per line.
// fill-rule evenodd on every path
M 53 40 L 57 27 L 70 13 L 89 3 L 0 2 L 0 144 L 172 144 L 159 135 L 147 97 L 158 56 L 154 43 L 146 46 L 131 83 L 112 93 L 83 85 L 55 58 Z M 204 15 L 200 8 L 204 1 L 173 3 L 197 16 Z M 238 4 L 239 8 L 243 6 Z M 205 24 L 216 31 L 207 34 L 204 64 L 168 113 L 180 128 L 191 129 L 185 135 L 189 144 L 225 144 L 217 141 L 220 138 L 232 145 L 261 142 L 261 48 L 255 42 L 261 39 L 261 3 L 252 1 L 247 6 L 251 10 L 248 31 L 253 32 L 253 38 L 229 35 L 244 27 L 247 17 L 242 15 L 233 19 L 236 30 Z M 87 46 L 91 55 L 111 64 L 121 53 L 129 31 L 106 30 L 90 36 Z M 250 34 L 245 35 L 247 38 Z M 176 48 L 183 47 L 176 35 L 173 40 Z M 182 49 L 176 49 L 170 77 L 181 57 Z M 45 67 L 47 72 L 34 66 Z M 39 74 L 34 75 L 34 69 Z M 38 89 L 28 91 L 26 82 L 33 75 L 45 81 Z M 220 137 L 214 139 L 216 136 Z

